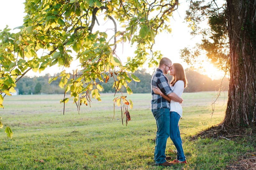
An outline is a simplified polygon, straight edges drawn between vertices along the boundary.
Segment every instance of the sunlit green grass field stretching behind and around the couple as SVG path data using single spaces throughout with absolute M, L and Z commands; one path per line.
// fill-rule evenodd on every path
M 8 138 L 0 130 L 0 169 L 223 169 L 230 160 L 252 150 L 246 142 L 190 137 L 220 123 L 224 117 L 227 92 L 221 93 L 212 113 L 215 92 L 183 94 L 180 131 L 187 165 L 155 166 L 153 160 L 156 122 L 150 110 L 151 94 L 132 94 L 131 121 L 122 125 L 121 110 L 113 94 L 102 94 L 78 114 L 63 95 L 6 96 L 0 117 L 12 128 Z M 175 159 L 175 147 L 167 141 L 166 155 Z

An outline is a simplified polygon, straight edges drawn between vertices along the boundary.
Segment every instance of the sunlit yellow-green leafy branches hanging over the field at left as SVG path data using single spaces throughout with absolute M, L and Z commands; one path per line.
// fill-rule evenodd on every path
M 131 94 L 127 83 L 140 80 L 128 72 L 146 61 L 149 67 L 158 63 L 162 55 L 152 50 L 155 36 L 171 32 L 168 21 L 178 8 L 175 0 L 26 0 L 24 4 L 27 15 L 24 24 L 16 28 L 20 32 L 10 33 L 8 27 L 0 32 L 0 107 L 3 93 L 11 95 L 16 82 L 29 70 L 40 73 L 55 64 L 69 67 L 74 59 L 80 62 L 77 70 L 63 70 L 59 75 L 59 86 L 65 89 L 64 104 L 69 98 L 78 107 L 87 105 L 91 97 L 100 101 L 99 83 L 108 82 L 113 74 L 116 92 L 124 86 Z M 95 28 L 102 22 L 100 16 L 111 23 L 106 30 L 113 30 L 112 34 Z M 125 64 L 116 55 L 117 44 L 124 42 L 136 46 L 134 56 L 127 56 Z

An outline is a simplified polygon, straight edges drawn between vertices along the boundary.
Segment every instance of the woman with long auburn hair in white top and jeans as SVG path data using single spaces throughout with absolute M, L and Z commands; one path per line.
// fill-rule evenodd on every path
M 170 83 L 171 89 L 181 97 L 184 88 L 187 87 L 187 78 L 182 65 L 179 63 L 173 63 L 170 68 L 170 75 L 172 75 L 172 81 Z M 159 88 L 154 88 L 153 91 L 161 97 L 164 97 L 164 99 L 170 101 L 170 138 L 177 149 L 177 159 L 173 160 L 172 163 L 186 164 L 187 161 L 184 155 L 179 129 L 179 121 L 182 117 L 182 107 L 179 102 L 175 102 L 168 96 L 164 95 Z

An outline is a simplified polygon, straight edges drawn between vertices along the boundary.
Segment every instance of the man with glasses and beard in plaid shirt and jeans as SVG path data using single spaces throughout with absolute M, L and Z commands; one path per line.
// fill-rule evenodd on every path
M 154 87 L 170 97 L 172 100 L 182 103 L 182 98 L 178 97 L 170 88 L 168 78 L 164 75 L 167 74 L 172 66 L 172 61 L 169 58 L 162 58 L 159 67 L 153 74 L 151 79 L 151 111 L 156 119 L 156 146 L 154 159 L 157 166 L 171 166 L 173 163 L 165 160 L 166 141 L 170 136 L 170 103 L 165 100 L 161 95 L 153 92 Z

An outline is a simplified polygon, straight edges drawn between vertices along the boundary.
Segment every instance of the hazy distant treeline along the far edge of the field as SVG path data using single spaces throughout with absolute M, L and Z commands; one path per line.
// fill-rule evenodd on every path
M 208 76 L 202 75 L 196 71 L 186 69 L 186 76 L 188 79 L 188 87 L 185 88 L 184 92 L 201 92 L 201 91 L 216 91 L 220 88 L 220 80 L 212 80 Z M 150 93 L 150 82 L 152 75 L 147 73 L 145 70 L 137 70 L 133 73 L 140 79 L 140 82 L 132 81 L 128 83 L 133 93 Z M 23 77 L 17 82 L 16 89 L 19 89 L 19 94 L 63 94 L 64 89 L 59 87 L 60 78 L 53 81 L 51 84 L 48 83 L 49 78 L 56 77 L 59 74 L 51 76 L 46 74 L 39 77 Z M 113 74 L 114 75 L 114 74 Z M 169 80 L 172 76 L 166 75 Z M 103 87 L 103 92 L 115 92 L 113 89 L 114 79 L 109 78 L 108 83 L 100 83 Z M 224 78 L 221 84 L 223 90 L 228 90 L 228 78 Z M 123 92 L 125 88 L 121 89 Z

